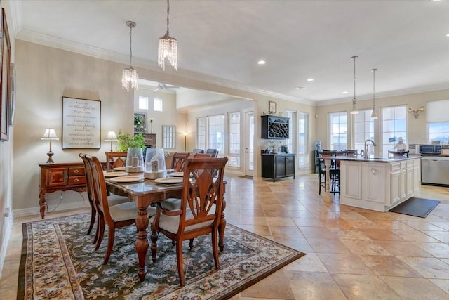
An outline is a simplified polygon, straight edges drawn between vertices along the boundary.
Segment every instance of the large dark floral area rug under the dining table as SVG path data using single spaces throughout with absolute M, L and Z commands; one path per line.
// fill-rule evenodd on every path
M 192 250 L 185 242 L 186 285 L 180 287 L 175 247 L 159 235 L 157 260 L 149 252 L 140 282 L 135 226 L 116 230 L 109 263 L 102 265 L 107 237 L 95 252 L 88 224 L 88 214 L 23 224 L 18 299 L 228 299 L 304 255 L 228 224 L 220 270 L 210 235 L 196 238 Z

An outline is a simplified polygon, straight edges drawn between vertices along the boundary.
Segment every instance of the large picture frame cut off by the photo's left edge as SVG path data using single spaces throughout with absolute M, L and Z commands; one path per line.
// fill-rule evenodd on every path
M 8 79 L 11 64 L 11 44 L 8 34 L 8 24 L 6 24 L 6 15 L 4 8 L 1 8 L 1 77 L 0 77 L 0 141 L 9 140 L 9 123 L 10 123 L 10 107 L 11 97 L 8 95 Z

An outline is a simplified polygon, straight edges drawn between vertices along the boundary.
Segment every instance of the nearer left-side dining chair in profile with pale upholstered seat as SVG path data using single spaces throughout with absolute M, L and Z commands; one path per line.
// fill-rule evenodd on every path
M 100 221 L 100 227 L 98 230 L 99 235 L 97 244 L 95 245 L 95 250 L 100 247 L 103 235 L 105 234 L 105 225 L 109 228 L 107 234 L 107 249 L 105 259 L 103 260 L 103 264 L 106 264 L 107 261 L 109 261 L 109 256 L 111 256 L 112 247 L 114 246 L 115 229 L 135 223 L 138 209 L 135 207 L 134 202 L 125 202 L 109 207 L 109 203 L 107 201 L 105 176 L 103 175 L 100 160 L 98 160 L 97 157 L 90 155 L 85 155 L 85 157 L 91 166 L 93 178 L 93 200 L 97 205 L 97 212 L 100 215 L 100 218 L 98 218 Z M 147 211 L 148 216 L 154 216 L 156 214 L 155 207 L 148 207 Z

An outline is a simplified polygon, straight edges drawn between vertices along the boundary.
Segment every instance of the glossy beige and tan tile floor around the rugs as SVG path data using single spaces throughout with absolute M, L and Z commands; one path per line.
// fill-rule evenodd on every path
M 316 174 L 227 182 L 229 223 L 307 253 L 233 300 L 449 299 L 449 188 L 421 186 L 418 197 L 441 200 L 421 219 L 340 205 L 338 195 L 325 203 Z M 38 219 L 15 220 L 1 299 L 16 298 L 21 223 Z

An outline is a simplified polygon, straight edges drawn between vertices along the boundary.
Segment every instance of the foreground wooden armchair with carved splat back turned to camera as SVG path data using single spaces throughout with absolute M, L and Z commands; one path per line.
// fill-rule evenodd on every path
M 223 205 L 223 175 L 227 157 L 187 159 L 182 181 L 180 209 L 167 210 L 157 207 L 152 224 L 152 258 L 156 259 L 156 233 L 163 233 L 176 244 L 177 271 L 180 285 L 185 285 L 182 266 L 182 241 L 211 235 L 215 268 L 220 269 L 217 229 L 220 225 Z

